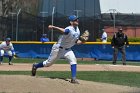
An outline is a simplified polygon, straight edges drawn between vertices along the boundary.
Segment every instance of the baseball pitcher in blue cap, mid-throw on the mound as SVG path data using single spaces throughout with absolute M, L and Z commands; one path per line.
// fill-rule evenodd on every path
M 71 50 L 71 47 L 75 44 L 82 44 L 88 40 L 89 32 L 85 31 L 82 36 L 80 36 L 80 30 L 78 28 L 78 18 L 75 15 L 69 16 L 70 26 L 65 29 L 49 25 L 49 29 L 56 29 L 62 33 L 62 36 L 58 39 L 58 42 L 55 43 L 52 47 L 50 56 L 47 60 L 33 64 L 32 66 L 32 76 L 36 75 L 36 70 L 42 67 L 51 66 L 57 59 L 64 57 L 68 60 L 71 66 L 71 83 L 78 84 L 76 80 L 77 72 L 77 60 Z

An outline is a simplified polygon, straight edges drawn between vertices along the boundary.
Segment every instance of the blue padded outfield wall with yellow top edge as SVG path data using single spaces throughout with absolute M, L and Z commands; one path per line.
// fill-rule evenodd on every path
M 21 58 L 48 58 L 51 47 L 55 42 L 13 42 L 16 54 Z M 113 49 L 109 43 L 87 42 L 72 47 L 77 58 L 96 58 L 100 60 L 112 60 Z M 127 60 L 140 60 L 140 42 L 131 43 L 126 48 Z M 118 59 L 121 59 L 119 53 Z

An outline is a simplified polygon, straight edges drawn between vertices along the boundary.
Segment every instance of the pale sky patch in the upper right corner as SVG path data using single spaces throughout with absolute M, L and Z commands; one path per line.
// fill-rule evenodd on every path
M 120 13 L 140 13 L 140 0 L 100 0 L 102 13 L 115 9 Z

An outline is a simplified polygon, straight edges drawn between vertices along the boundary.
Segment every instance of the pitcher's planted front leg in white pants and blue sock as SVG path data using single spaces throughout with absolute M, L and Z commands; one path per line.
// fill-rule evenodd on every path
M 67 51 L 64 55 L 64 57 L 69 61 L 70 66 L 71 66 L 71 83 L 77 83 L 78 81 L 76 80 L 76 73 L 77 73 L 77 59 L 73 53 L 72 50 Z

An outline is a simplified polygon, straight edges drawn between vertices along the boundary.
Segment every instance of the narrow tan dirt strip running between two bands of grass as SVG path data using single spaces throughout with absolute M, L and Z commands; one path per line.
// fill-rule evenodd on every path
M 4 63 L 0 65 L 0 71 L 31 71 L 32 64 L 14 64 L 9 66 Z M 42 71 L 70 71 L 69 64 L 54 64 L 51 67 L 41 68 Z M 78 65 L 78 71 L 129 71 L 140 72 L 140 66 L 132 65 L 109 65 L 109 64 L 96 64 L 96 65 Z

